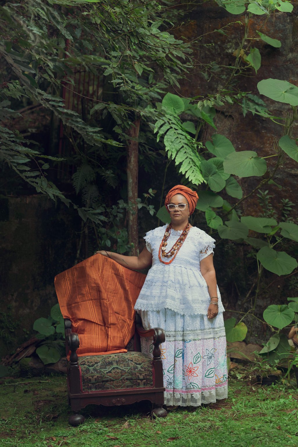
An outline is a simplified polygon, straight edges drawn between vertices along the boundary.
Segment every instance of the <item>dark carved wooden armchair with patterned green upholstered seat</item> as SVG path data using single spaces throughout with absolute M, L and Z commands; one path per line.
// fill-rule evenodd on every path
M 135 333 L 127 346 L 127 352 L 115 354 L 76 354 L 80 346 L 79 335 L 71 331 L 71 320 L 64 319 L 67 364 L 68 399 L 73 411 L 69 417 L 72 426 L 85 420 L 80 410 L 89 404 L 127 405 L 143 400 L 154 404 L 152 416 L 166 417 L 163 409 L 163 366 L 159 345 L 164 342 L 164 330 L 145 330 L 138 314 Z M 141 353 L 140 337 L 152 337 L 153 358 Z

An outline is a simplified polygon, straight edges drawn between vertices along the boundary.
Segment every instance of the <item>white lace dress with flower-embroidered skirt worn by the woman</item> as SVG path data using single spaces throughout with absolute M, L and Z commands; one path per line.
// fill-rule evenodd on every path
M 159 245 L 166 225 L 147 232 L 152 266 L 135 304 L 146 329 L 164 329 L 161 346 L 164 403 L 198 406 L 227 397 L 227 343 L 218 290 L 218 315 L 208 320 L 210 303 L 200 261 L 213 253 L 214 239 L 192 227 L 171 264 L 159 261 Z M 168 247 L 180 236 L 172 229 Z M 142 339 L 142 351 L 152 355 L 152 341 Z

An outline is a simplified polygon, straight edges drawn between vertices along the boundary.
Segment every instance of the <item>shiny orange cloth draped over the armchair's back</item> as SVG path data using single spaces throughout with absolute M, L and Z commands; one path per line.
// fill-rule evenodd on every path
M 79 356 L 126 352 L 134 335 L 134 304 L 146 275 L 95 254 L 55 276 L 63 318 L 79 334 Z

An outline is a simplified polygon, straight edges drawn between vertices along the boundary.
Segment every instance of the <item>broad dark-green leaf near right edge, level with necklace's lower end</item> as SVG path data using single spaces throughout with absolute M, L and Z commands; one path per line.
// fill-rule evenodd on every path
M 277 252 L 269 247 L 263 247 L 256 257 L 265 269 L 276 273 L 278 276 L 290 274 L 297 266 L 294 257 L 285 252 Z

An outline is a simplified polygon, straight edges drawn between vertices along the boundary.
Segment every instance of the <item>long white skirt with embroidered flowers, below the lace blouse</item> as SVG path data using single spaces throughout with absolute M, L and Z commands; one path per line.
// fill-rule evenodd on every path
M 227 398 L 227 343 L 222 312 L 183 315 L 171 309 L 139 311 L 144 328 L 161 327 L 165 405 L 199 406 Z M 142 352 L 152 356 L 153 345 L 141 337 Z

